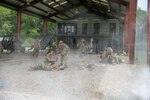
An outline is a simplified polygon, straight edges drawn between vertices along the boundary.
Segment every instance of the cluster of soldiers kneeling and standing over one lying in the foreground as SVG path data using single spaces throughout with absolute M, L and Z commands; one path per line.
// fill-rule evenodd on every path
M 37 53 L 38 50 L 35 50 Z M 67 67 L 67 59 L 70 53 L 70 48 L 63 41 L 59 41 L 57 50 L 50 50 L 45 58 L 44 64 L 38 64 L 32 69 L 42 69 L 42 70 L 63 70 Z

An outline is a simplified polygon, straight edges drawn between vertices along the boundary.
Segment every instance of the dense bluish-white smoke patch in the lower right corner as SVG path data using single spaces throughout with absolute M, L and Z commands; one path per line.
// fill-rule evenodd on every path
M 140 68 L 136 72 L 132 92 L 140 100 L 150 99 L 150 70 L 148 67 Z

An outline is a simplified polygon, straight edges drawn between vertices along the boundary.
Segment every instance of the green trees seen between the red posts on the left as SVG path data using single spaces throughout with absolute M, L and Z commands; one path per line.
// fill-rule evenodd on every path
M 0 36 L 17 34 L 17 12 L 0 6 Z M 47 22 L 47 33 L 56 33 L 56 24 Z M 29 46 L 35 37 L 43 36 L 43 19 L 30 15 L 21 16 L 21 41 Z M 55 42 L 55 41 L 54 41 Z

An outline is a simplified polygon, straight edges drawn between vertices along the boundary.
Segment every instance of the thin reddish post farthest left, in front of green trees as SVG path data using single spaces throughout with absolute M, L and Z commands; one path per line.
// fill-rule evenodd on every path
M 17 38 L 20 39 L 21 32 L 21 11 L 17 11 Z

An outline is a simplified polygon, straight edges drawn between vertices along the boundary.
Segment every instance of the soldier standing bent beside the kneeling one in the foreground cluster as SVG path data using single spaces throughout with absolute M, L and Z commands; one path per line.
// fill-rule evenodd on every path
M 70 52 L 70 48 L 63 41 L 59 41 L 58 44 L 58 53 L 61 56 L 61 66 L 67 67 L 67 59 Z

